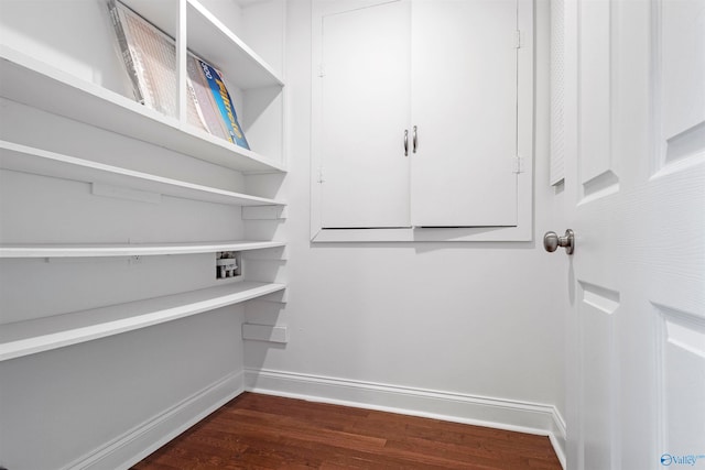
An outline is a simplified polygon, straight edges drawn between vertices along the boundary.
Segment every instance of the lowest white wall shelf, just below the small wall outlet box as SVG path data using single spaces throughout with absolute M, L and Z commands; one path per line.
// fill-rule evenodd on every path
M 250 300 L 284 288 L 282 284 L 241 282 L 2 325 L 0 361 L 147 328 Z

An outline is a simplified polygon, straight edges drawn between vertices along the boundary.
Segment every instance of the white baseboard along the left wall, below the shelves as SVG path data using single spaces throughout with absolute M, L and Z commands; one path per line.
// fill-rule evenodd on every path
M 73 461 L 63 470 L 129 469 L 243 390 L 242 372 L 229 374 Z

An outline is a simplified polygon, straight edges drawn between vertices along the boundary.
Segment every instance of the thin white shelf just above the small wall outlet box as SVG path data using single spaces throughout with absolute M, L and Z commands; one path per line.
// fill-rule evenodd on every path
M 0 244 L 0 258 L 102 258 L 250 251 L 284 247 L 279 241 L 207 241 L 195 243 Z

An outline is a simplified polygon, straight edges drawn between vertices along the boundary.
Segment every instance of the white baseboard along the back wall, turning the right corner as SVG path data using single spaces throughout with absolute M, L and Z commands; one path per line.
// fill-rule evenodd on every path
M 250 392 L 549 436 L 565 468 L 565 422 L 552 405 L 292 372 L 246 369 Z

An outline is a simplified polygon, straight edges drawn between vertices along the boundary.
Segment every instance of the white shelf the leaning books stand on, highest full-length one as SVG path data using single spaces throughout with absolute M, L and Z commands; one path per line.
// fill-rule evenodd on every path
M 0 96 L 243 173 L 284 165 L 0 45 Z

